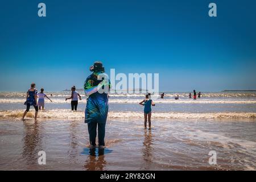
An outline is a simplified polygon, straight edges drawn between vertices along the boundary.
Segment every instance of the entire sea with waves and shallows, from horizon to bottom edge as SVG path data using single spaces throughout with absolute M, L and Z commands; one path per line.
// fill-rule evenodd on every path
M 65 101 L 71 92 L 45 93 L 53 102 L 46 99 L 34 122 L 34 108 L 21 121 L 26 92 L 0 92 L 0 169 L 256 169 L 256 92 L 202 92 L 196 101 L 187 92 L 164 92 L 152 97 L 151 130 L 138 104 L 144 94 L 110 94 L 104 155 L 89 155 L 84 93 L 77 111 Z M 46 165 L 38 164 L 41 150 Z

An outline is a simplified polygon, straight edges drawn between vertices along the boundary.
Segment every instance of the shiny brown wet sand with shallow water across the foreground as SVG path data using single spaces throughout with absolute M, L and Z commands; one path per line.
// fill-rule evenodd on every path
M 0 121 L 1 170 L 255 170 L 255 119 L 109 120 L 104 152 L 82 121 Z M 46 152 L 46 165 L 38 152 Z M 209 151 L 217 152 L 210 165 Z

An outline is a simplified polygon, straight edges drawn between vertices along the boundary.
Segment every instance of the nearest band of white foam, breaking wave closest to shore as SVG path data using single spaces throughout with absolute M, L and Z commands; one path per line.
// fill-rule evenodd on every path
M 7 110 L 0 111 L 2 119 L 20 119 L 24 110 Z M 44 110 L 39 111 L 39 119 L 74 119 L 83 120 L 84 111 L 71 111 L 67 109 Z M 34 117 L 34 112 L 30 111 L 27 117 Z M 143 119 L 142 112 L 126 111 L 110 111 L 109 119 Z M 256 119 L 256 113 L 152 113 L 152 119 Z

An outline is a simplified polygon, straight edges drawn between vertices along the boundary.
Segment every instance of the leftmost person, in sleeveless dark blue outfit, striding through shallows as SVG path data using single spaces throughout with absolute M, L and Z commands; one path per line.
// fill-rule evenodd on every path
M 24 105 L 27 106 L 27 109 L 24 111 L 22 121 L 24 121 L 24 117 L 26 116 L 27 112 L 30 110 L 30 106 L 34 106 L 35 108 L 35 121 L 36 121 L 36 118 L 38 117 L 38 101 L 37 101 L 36 93 L 38 93 L 38 91 L 35 89 L 35 83 L 32 83 L 30 89 L 28 89 L 27 91 L 26 102 L 24 103 Z

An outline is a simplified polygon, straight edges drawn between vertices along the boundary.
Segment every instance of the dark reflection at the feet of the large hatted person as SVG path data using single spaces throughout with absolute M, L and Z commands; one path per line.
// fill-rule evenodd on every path
M 104 152 L 104 149 L 98 151 L 96 151 L 96 148 L 90 149 L 84 168 L 88 171 L 105 170 L 106 161 Z

